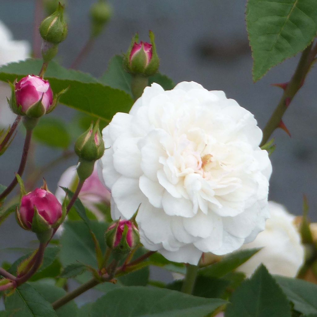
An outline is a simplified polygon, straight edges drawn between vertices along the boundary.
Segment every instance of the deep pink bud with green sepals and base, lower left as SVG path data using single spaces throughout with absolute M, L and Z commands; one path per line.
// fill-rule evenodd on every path
M 19 180 L 21 185 L 21 180 Z M 48 190 L 47 184 L 26 193 L 21 185 L 20 208 L 16 207 L 16 218 L 25 230 L 36 233 L 41 243 L 46 243 L 52 236 L 53 229 L 65 219 L 66 206 Z

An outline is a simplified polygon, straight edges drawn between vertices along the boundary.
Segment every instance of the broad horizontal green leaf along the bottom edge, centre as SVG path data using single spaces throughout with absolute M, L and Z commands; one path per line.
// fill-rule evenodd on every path
M 124 303 L 124 304 L 123 304 Z M 122 287 L 93 305 L 91 317 L 204 317 L 227 304 L 162 288 Z

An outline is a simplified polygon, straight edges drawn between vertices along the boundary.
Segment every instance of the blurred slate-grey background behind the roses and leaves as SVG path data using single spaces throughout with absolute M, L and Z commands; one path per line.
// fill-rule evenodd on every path
M 69 33 L 58 55 L 65 67 L 72 63 L 87 41 L 88 10 L 93 2 L 68 0 Z M 113 18 L 79 69 L 100 76 L 113 55 L 126 51 L 134 33 L 139 32 L 140 39 L 147 41 L 151 29 L 156 36 L 161 73 L 176 83 L 197 81 L 209 90 L 225 91 L 228 97 L 254 113 L 261 128 L 265 126 L 282 94 L 280 88 L 270 84 L 288 81 L 298 57 L 271 69 L 259 82 L 252 82 L 245 0 L 113 0 L 109 3 L 113 6 Z M 32 41 L 34 7 L 33 0 L 0 0 L 0 20 L 12 30 L 16 39 Z M 269 194 L 271 200 L 300 215 L 305 193 L 313 220 L 317 220 L 316 74 L 313 68 L 284 116 L 292 138 L 282 130 L 274 133 L 277 147 L 271 156 L 273 174 Z M 74 114 L 66 106 L 60 106 L 55 115 L 58 113 L 65 120 L 70 120 Z M 0 158 L 1 183 L 9 184 L 13 178 L 21 151 L 22 137 L 17 137 Z M 59 154 L 42 146 L 37 148 L 35 160 L 44 164 Z M 69 159 L 44 175 L 51 191 L 55 191 L 61 173 L 75 163 L 75 159 Z M 13 215 L 0 227 L 0 249 L 27 246 L 32 239 L 31 233 L 17 226 Z M 14 253 L 0 253 L 0 262 L 15 259 Z

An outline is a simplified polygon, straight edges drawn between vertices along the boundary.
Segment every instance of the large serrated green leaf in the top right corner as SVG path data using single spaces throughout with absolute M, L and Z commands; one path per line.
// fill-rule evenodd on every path
M 304 50 L 317 32 L 317 0 L 249 0 L 247 30 L 253 80 Z

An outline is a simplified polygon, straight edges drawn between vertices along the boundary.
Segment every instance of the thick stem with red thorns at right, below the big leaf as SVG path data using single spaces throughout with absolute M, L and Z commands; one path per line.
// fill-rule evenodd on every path
M 294 98 L 295 94 L 303 85 L 316 53 L 317 45 L 315 45 L 315 47 L 312 49 L 312 44 L 303 51 L 292 79 L 288 82 L 280 102 L 263 129 L 263 138 L 260 146 L 263 146 L 265 143 L 267 143 L 272 133 L 279 127 L 283 114 L 288 108 L 290 101 Z

